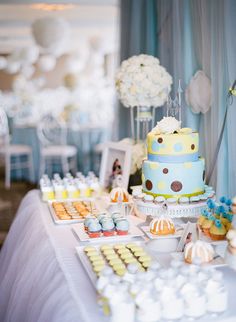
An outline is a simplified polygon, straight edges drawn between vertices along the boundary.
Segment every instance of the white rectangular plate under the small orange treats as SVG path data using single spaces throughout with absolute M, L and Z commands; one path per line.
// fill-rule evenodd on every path
M 81 199 L 60 199 L 60 200 L 49 200 L 48 201 L 48 208 L 49 208 L 49 212 L 51 214 L 51 217 L 54 221 L 55 224 L 57 225 L 68 225 L 68 224 L 76 224 L 76 223 L 82 223 L 84 222 L 84 218 L 75 218 L 75 219 L 59 219 L 52 207 L 52 203 L 53 202 L 75 202 L 75 201 L 85 201 L 85 202 L 94 202 L 94 199 L 92 198 L 81 198 Z M 104 210 L 100 209 L 97 206 L 96 203 L 96 208 L 98 210 L 98 212 L 105 212 Z

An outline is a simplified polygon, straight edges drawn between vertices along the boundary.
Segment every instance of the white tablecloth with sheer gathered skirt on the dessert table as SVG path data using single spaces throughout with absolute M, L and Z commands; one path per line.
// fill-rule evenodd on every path
M 39 191 L 30 191 L 0 253 L 0 321 L 109 321 L 76 255 L 78 245 L 71 225 L 55 225 Z M 169 255 L 163 256 L 168 264 Z M 236 273 L 228 267 L 221 270 L 229 310 L 213 320 L 233 322 Z

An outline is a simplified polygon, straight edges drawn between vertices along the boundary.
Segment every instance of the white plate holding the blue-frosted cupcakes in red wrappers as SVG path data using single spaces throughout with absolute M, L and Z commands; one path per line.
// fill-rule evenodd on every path
M 73 232 L 79 238 L 81 242 L 119 242 L 122 240 L 127 240 L 133 237 L 142 237 L 143 232 L 130 220 L 130 228 L 127 235 L 114 235 L 114 236 L 101 236 L 97 238 L 90 238 L 89 235 L 84 230 L 84 224 L 78 223 L 72 227 Z

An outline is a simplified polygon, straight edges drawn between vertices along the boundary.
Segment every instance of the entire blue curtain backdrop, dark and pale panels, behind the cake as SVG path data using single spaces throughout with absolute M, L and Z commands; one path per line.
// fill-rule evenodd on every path
M 155 14 L 157 17 L 153 17 Z M 235 30 L 235 0 L 121 1 L 121 61 L 140 53 L 157 56 L 173 76 L 173 95 L 178 79 L 185 88 L 199 69 L 211 79 L 210 111 L 194 114 L 184 101 L 182 122 L 182 126 L 199 131 L 200 152 L 206 159 L 207 171 L 222 126 L 228 89 L 236 78 Z M 128 110 L 120 107 L 119 113 L 120 135 L 127 136 Z M 236 195 L 235 123 L 236 97 L 229 108 L 217 166 L 210 182 L 218 196 Z

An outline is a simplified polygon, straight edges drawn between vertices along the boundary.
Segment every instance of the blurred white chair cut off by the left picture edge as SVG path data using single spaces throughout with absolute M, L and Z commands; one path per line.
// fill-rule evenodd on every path
M 22 161 L 22 157 L 26 161 Z M 9 127 L 7 115 L 3 108 L 0 107 L 0 157 L 5 163 L 5 187 L 10 188 L 11 170 L 28 169 L 30 181 L 34 181 L 32 149 L 28 145 L 10 144 Z M 15 162 L 12 163 L 12 157 Z

